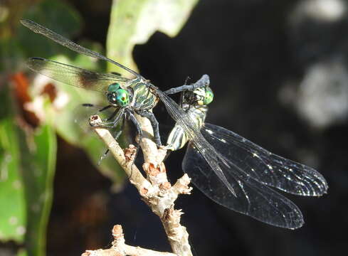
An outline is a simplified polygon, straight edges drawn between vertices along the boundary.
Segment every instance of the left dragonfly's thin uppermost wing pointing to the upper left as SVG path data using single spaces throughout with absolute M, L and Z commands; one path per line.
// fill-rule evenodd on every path
M 58 35 L 58 33 L 51 31 L 48 28 L 45 28 L 44 26 L 41 26 L 40 24 L 30 21 L 30 20 L 21 20 L 21 23 L 26 26 L 27 28 L 31 29 L 31 31 L 35 33 L 40 33 L 43 36 L 46 36 L 47 38 L 50 38 L 51 40 L 55 41 L 56 43 L 59 43 L 62 46 L 65 46 L 66 48 L 69 48 L 70 50 L 73 50 L 77 53 L 81 53 L 93 58 L 98 58 L 100 60 L 106 60 L 112 64 L 117 65 L 120 68 L 123 68 L 124 70 L 127 70 L 128 72 L 132 73 L 133 75 L 137 76 L 138 78 L 142 78 L 141 75 L 136 73 L 135 71 L 131 70 L 130 68 L 125 67 L 124 65 L 121 65 L 120 63 L 117 63 L 115 60 L 111 60 L 110 58 L 105 57 L 104 55 L 101 55 L 100 53 L 96 53 L 93 50 L 89 50 L 87 48 L 84 48 L 83 46 L 78 45 L 77 43 L 74 43 L 73 41 L 70 41 L 68 38 L 65 38 L 63 36 Z

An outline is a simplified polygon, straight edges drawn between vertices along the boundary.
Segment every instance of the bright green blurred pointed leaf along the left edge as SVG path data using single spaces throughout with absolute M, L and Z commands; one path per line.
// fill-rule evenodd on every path
M 19 163 L 19 138 L 7 90 L 0 91 L 0 240 L 23 242 L 26 204 Z

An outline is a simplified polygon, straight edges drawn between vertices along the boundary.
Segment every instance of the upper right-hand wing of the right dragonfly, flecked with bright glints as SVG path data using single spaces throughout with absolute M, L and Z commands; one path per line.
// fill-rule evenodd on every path
M 325 178 L 315 169 L 277 156 L 238 134 L 213 124 L 201 129 L 207 141 L 233 166 L 255 181 L 300 196 L 322 196 Z M 226 170 L 227 171 L 227 170 Z

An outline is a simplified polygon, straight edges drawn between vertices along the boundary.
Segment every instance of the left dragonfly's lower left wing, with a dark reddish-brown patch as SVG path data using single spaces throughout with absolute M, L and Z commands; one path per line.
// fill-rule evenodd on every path
M 78 68 L 73 65 L 59 63 L 45 58 L 29 58 L 28 68 L 36 71 L 48 78 L 52 78 L 68 85 L 81 87 L 98 92 L 107 91 L 107 86 L 112 82 L 127 82 L 127 78 L 122 78 L 113 74 L 95 73 L 90 70 Z

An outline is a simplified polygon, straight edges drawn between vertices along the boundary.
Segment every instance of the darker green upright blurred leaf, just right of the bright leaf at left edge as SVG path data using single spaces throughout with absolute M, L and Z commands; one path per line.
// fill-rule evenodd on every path
M 28 255 L 46 252 L 46 227 L 52 205 L 56 168 L 56 132 L 43 124 L 33 134 L 21 132 L 21 165 L 26 190 L 26 250 Z

